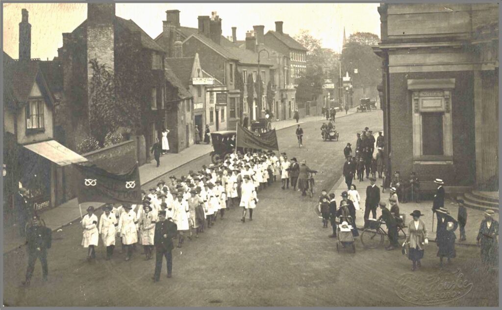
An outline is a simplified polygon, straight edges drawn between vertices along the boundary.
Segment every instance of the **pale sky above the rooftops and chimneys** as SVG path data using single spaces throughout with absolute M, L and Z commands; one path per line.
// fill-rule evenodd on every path
M 181 26 L 197 28 L 198 16 L 216 11 L 222 19 L 223 36 L 244 40 L 254 25 L 264 25 L 265 33 L 284 22 L 283 31 L 294 37 L 302 30 L 320 39 L 324 48 L 339 51 L 343 39 L 355 32 L 370 32 L 380 37 L 379 4 L 116 4 L 115 14 L 131 19 L 152 38 L 162 32 L 167 10 L 180 11 Z M 52 60 L 63 45 L 62 33 L 72 32 L 87 17 L 87 4 L 3 4 L 4 51 L 18 58 L 21 10 L 29 12 L 32 25 L 31 57 Z

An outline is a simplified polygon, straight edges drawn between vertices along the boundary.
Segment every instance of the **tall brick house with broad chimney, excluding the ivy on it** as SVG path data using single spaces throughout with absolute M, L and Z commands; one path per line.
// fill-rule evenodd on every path
M 164 57 L 162 47 L 138 25 L 115 16 L 114 4 L 88 4 L 87 19 L 63 34 L 63 46 L 58 49 L 66 109 L 56 114 L 56 121 L 64 129 L 65 145 L 75 150 L 89 136 L 90 61 L 97 60 L 119 77 L 122 85 L 120 89 L 115 86 L 115 93 L 140 107 L 140 120 L 129 132 L 138 142 L 140 164 L 148 161 L 151 145 L 166 122 Z

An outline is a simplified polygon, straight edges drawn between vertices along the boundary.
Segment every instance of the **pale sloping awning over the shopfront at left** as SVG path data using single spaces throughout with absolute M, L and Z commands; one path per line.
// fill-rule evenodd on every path
M 78 155 L 55 140 L 28 144 L 24 145 L 24 147 L 60 166 L 88 161 L 87 158 Z

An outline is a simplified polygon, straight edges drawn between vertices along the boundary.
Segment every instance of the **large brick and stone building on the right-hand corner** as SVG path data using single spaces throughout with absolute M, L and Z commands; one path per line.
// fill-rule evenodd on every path
M 497 4 L 383 4 L 380 87 L 391 169 L 424 187 L 498 184 Z M 427 25 L 427 27 L 423 27 Z

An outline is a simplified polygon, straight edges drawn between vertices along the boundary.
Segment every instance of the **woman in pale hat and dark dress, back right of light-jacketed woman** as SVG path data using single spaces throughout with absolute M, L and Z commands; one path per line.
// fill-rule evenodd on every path
M 438 246 L 439 264 L 442 267 L 443 257 L 448 259 L 448 263 L 451 262 L 451 258 L 455 257 L 455 239 L 457 238 L 455 230 L 458 227 L 458 222 L 448 214 L 445 207 L 437 209 L 436 212 L 441 213 L 436 232 L 436 245 Z

